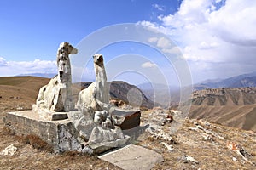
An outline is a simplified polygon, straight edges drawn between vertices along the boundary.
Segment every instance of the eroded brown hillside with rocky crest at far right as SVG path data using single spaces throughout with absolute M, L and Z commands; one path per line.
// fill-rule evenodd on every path
M 195 91 L 189 117 L 256 131 L 256 88 Z

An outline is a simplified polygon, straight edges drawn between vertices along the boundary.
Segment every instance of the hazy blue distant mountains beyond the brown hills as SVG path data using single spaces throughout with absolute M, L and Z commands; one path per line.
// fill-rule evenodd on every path
M 143 91 L 148 99 L 156 101 L 164 107 L 169 105 L 178 105 L 180 101 L 180 94 L 182 90 L 187 88 L 179 88 L 177 86 L 167 86 L 160 83 L 143 83 L 137 85 Z M 256 71 L 242 74 L 236 77 L 229 77 L 225 79 L 209 79 L 198 82 L 193 85 L 193 91 L 202 90 L 206 88 L 245 88 L 256 87 Z M 188 88 L 189 89 L 189 88 Z

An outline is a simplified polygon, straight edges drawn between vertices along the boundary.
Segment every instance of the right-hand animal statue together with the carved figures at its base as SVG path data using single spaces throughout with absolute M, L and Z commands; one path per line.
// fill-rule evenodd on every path
M 87 144 L 100 144 L 125 139 L 119 125 L 122 116 L 112 116 L 109 112 L 109 88 L 102 54 L 93 56 L 96 82 L 79 93 L 78 108 L 84 116 L 74 120 L 82 139 Z M 107 108 L 108 111 L 105 109 Z

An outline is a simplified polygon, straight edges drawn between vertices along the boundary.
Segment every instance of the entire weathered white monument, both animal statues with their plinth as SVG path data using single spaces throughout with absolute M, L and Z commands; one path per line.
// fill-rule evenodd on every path
M 40 88 L 32 111 L 9 112 L 6 126 L 16 134 L 34 134 L 54 146 L 55 151 L 76 150 L 101 153 L 120 147 L 130 137 L 122 130 L 140 125 L 140 111 L 123 111 L 109 104 L 109 87 L 102 54 L 93 56 L 96 81 L 72 100 L 69 54 L 78 50 L 62 42 L 57 52 L 58 75 Z

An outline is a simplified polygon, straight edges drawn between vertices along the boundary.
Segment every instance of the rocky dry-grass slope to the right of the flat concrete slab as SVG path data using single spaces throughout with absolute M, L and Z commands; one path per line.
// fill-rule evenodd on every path
M 143 113 L 143 123 L 147 124 L 152 116 L 164 120 L 161 117 L 168 112 L 170 114 L 170 111 L 163 110 Z M 162 122 L 151 135 L 144 136 L 139 142 L 164 156 L 165 161 L 154 169 L 256 168 L 256 133 L 253 131 L 186 119 L 183 126 L 172 133 L 175 116 L 172 123 L 162 126 Z

